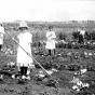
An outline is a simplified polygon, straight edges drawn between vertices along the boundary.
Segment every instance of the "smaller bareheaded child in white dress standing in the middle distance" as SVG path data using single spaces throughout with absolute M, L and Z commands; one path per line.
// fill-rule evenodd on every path
M 56 38 L 56 35 L 55 35 L 55 31 L 53 31 L 53 27 L 50 26 L 49 27 L 49 31 L 46 32 L 46 45 L 45 45 L 45 49 L 49 50 L 49 55 L 52 55 L 51 52 L 52 50 L 54 51 L 54 55 L 55 55 L 55 38 Z

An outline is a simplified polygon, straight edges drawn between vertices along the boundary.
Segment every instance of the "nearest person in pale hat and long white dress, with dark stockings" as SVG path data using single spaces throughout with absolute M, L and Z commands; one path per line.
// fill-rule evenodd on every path
M 22 22 L 18 29 L 21 30 L 21 33 L 17 36 L 19 45 L 31 55 L 32 35 L 28 30 L 28 25 Z M 23 79 L 30 79 L 28 70 L 33 66 L 33 60 L 21 46 L 17 49 L 17 67 Z

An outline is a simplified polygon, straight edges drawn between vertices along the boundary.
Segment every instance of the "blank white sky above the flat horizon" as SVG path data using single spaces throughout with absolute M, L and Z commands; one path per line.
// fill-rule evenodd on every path
M 0 0 L 0 22 L 95 21 L 94 0 Z

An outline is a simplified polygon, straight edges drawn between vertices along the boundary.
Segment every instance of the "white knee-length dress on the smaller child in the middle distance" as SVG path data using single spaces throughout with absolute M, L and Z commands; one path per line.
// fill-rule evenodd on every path
M 56 35 L 54 31 L 48 31 L 46 32 L 46 38 L 48 38 L 48 41 L 46 41 L 46 45 L 45 45 L 45 49 L 48 50 L 54 50 L 55 49 L 55 38 L 56 38 Z

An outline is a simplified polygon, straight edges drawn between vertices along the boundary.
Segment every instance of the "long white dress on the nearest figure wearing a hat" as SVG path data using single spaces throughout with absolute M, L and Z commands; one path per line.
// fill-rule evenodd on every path
M 19 39 L 19 45 L 31 55 L 31 48 L 29 43 L 31 42 L 32 35 L 26 31 L 24 33 L 19 33 L 17 38 Z M 31 66 L 33 63 L 32 58 L 28 56 L 21 46 L 17 49 L 17 66 Z

